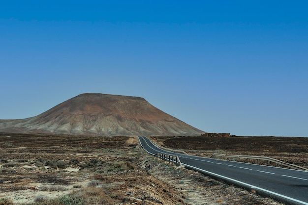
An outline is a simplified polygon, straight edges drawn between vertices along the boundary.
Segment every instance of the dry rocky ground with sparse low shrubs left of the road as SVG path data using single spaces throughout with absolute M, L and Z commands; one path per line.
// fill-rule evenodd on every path
M 270 204 L 265 203 L 269 199 L 253 191 L 243 192 L 196 172 L 162 163 L 145 154 L 137 145 L 138 140 L 131 141 L 133 145 L 126 144 L 128 139 L 131 138 L 31 134 L 3 138 L 21 149 L 18 152 L 15 147 L 5 147 L 5 152 L 0 149 L 0 166 L 14 164 L 2 168 L 0 191 L 10 196 L 8 202 L 19 205 L 179 205 L 215 204 L 218 200 L 237 205 Z M 16 190 L 23 190 L 31 197 L 22 197 Z M 53 196 L 53 193 L 63 195 Z

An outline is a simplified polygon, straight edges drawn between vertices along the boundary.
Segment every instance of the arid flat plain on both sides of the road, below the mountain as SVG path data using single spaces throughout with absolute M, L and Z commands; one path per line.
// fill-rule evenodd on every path
M 306 138 L 153 139 L 189 154 L 265 155 L 308 167 Z M 10 204 L 281 203 L 157 160 L 142 150 L 136 137 L 0 133 L 0 205 Z

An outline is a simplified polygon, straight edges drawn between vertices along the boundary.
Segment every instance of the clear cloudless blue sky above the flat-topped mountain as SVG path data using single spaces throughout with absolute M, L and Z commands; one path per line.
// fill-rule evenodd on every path
M 0 119 L 82 93 L 207 132 L 308 136 L 307 0 L 0 0 Z

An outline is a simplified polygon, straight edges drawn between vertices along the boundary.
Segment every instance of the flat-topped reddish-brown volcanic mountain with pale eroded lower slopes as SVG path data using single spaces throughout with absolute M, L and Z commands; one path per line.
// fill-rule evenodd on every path
M 2 132 L 73 135 L 200 135 L 204 133 L 140 97 L 85 93 L 35 117 L 0 120 Z

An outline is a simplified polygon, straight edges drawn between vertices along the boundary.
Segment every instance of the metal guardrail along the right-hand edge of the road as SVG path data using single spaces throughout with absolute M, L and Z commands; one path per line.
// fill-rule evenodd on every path
M 249 155 L 235 155 L 235 154 L 213 154 L 210 158 L 216 158 L 216 156 L 219 157 L 226 157 L 226 160 L 232 158 L 232 161 L 235 161 L 235 158 L 242 158 L 242 159 L 255 159 L 257 160 L 257 164 L 258 164 L 258 160 L 265 160 L 268 162 L 268 165 L 270 162 L 273 162 L 275 164 L 281 165 L 281 166 L 285 166 L 288 168 L 292 168 L 292 169 L 297 169 L 297 170 L 304 170 L 304 171 L 308 171 L 308 169 L 295 165 L 295 164 L 289 164 L 283 161 L 280 161 L 278 159 L 274 159 L 271 157 L 267 157 L 267 156 L 249 156 Z

